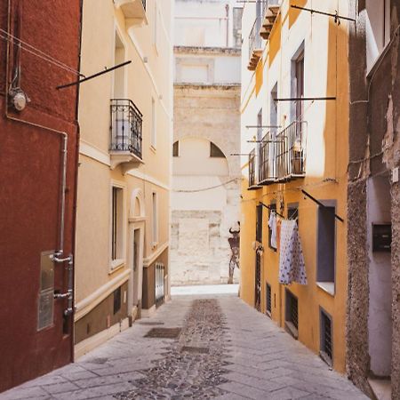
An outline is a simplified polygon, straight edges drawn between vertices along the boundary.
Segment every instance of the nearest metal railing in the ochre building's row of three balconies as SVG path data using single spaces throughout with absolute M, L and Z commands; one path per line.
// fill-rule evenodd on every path
M 295 121 L 276 136 L 276 180 L 306 174 L 307 122 Z

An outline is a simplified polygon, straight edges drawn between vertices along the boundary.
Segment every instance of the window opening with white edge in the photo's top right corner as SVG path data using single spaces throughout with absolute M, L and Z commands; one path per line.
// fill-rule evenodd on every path
M 367 71 L 371 71 L 380 53 L 390 42 L 390 0 L 366 0 Z

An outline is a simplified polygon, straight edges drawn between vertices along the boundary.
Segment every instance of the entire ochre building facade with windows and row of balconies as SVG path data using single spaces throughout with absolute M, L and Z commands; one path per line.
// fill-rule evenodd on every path
M 244 6 L 240 295 L 345 372 L 349 22 L 336 12 L 348 2 Z M 307 284 L 280 283 L 274 211 L 297 221 Z

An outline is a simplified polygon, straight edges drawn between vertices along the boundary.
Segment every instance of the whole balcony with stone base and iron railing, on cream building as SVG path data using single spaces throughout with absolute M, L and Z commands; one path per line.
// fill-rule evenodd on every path
M 112 99 L 110 112 L 111 169 L 124 164 L 124 172 L 127 172 L 143 164 L 141 159 L 143 116 L 129 99 Z

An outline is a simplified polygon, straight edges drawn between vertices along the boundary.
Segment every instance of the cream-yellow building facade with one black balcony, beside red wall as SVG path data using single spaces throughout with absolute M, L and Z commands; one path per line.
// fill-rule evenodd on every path
M 172 1 L 85 0 L 76 356 L 169 298 Z

